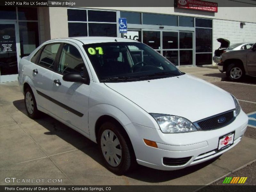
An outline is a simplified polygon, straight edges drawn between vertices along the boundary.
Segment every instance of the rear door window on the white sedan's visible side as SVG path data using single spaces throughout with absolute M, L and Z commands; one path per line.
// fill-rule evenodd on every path
M 59 43 L 46 45 L 40 56 L 39 65 L 44 68 L 53 69 L 54 60 L 56 58 L 59 47 Z

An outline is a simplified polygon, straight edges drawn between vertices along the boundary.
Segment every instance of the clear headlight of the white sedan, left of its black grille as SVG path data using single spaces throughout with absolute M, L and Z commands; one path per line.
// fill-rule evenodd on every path
M 150 113 L 164 133 L 180 133 L 197 131 L 196 127 L 183 117 Z

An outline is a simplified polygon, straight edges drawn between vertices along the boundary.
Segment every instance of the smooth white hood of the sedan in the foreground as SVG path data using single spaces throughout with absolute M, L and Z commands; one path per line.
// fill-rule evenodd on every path
M 105 84 L 148 113 L 181 116 L 192 122 L 235 108 L 228 92 L 188 74 Z

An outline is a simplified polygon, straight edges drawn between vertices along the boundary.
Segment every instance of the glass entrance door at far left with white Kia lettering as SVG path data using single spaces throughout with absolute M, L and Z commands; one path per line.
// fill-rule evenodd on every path
M 17 81 L 20 61 L 18 33 L 15 21 L 0 22 L 0 82 Z

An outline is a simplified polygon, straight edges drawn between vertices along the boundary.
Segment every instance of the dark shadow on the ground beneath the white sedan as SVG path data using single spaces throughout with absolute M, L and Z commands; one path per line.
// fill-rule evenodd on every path
M 13 101 L 13 105 L 22 113 L 27 115 L 24 100 L 16 100 Z M 35 122 L 43 126 L 48 132 L 45 132 L 46 135 L 56 135 L 61 139 L 65 140 L 69 144 L 73 145 L 75 148 L 84 152 L 86 155 L 90 156 L 93 160 L 104 166 L 103 160 L 101 159 L 100 152 L 98 150 L 98 145 L 80 134 L 76 132 L 72 128 L 68 127 L 65 124 L 62 124 L 60 121 L 54 119 L 53 117 L 42 113 L 40 118 L 35 119 Z M 176 171 L 161 171 L 151 169 L 145 166 L 137 165 L 130 172 L 126 173 L 125 176 L 130 177 L 132 179 L 150 182 L 150 183 L 158 183 L 164 182 L 168 180 L 173 180 L 190 173 L 196 172 L 205 166 L 211 164 L 216 161 L 219 157 L 213 158 L 207 162 L 193 165 L 181 170 Z

